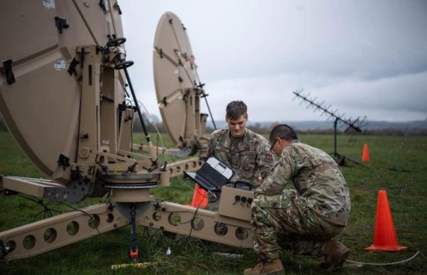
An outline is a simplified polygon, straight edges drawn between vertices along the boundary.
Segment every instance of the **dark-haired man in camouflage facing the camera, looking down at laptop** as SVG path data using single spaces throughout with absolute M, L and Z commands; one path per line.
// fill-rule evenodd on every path
M 273 154 L 267 140 L 246 129 L 248 114 L 246 104 L 232 101 L 227 104 L 225 121 L 228 129 L 211 134 L 207 157 L 216 157 L 235 172 L 231 182 L 236 187 L 257 187 L 273 164 Z M 207 209 L 218 210 L 220 193 L 209 197 Z

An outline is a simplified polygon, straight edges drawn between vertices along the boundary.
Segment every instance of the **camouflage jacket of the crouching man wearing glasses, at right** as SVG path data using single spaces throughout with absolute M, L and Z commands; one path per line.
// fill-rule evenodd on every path
M 351 208 L 349 188 L 341 168 L 327 153 L 297 140 L 292 142 L 255 194 L 273 196 L 291 188 L 295 188 L 307 207 L 323 219 L 338 225 L 347 224 Z M 285 207 L 279 201 L 274 204 L 270 207 Z

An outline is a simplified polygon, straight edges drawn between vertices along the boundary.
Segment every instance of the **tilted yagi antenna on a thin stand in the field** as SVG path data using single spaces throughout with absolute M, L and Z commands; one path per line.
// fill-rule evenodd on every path
M 343 126 L 346 126 L 344 133 L 349 133 L 351 134 L 350 137 L 350 141 L 356 140 L 355 136 L 358 133 L 362 133 L 362 128 L 367 126 L 368 122 L 367 122 L 367 117 L 363 117 L 362 119 L 360 119 L 360 117 L 356 118 L 356 119 L 351 119 L 350 118 L 345 118 L 345 113 L 342 113 L 341 115 L 338 113 L 338 109 L 335 109 L 335 111 L 332 111 L 331 107 L 332 105 L 328 105 L 326 107 L 325 101 L 322 101 L 319 103 L 319 101 L 317 101 L 317 97 L 316 98 L 310 98 L 310 93 L 308 94 L 303 94 L 303 89 L 300 89 L 299 91 L 293 91 L 293 94 L 295 94 L 295 97 L 292 100 L 295 100 L 296 98 L 298 98 L 300 100 L 299 104 L 307 104 L 306 109 L 310 109 L 313 108 L 314 109 L 314 113 L 316 111 L 321 111 L 321 116 L 325 115 L 327 120 L 333 120 L 334 121 L 334 157 L 336 159 L 336 162 L 338 164 L 344 164 L 345 161 L 345 156 L 340 155 L 337 153 L 336 151 L 336 127 L 338 126 L 338 124 L 340 124 L 340 127 L 342 128 Z M 347 158 L 349 159 L 349 158 Z M 355 162 L 354 160 L 349 159 L 351 162 L 354 162 L 356 164 L 360 164 L 358 162 Z

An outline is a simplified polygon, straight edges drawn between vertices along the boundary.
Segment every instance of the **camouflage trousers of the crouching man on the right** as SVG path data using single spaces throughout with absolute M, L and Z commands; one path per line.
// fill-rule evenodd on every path
M 264 261 L 277 259 L 280 248 L 323 256 L 326 241 L 344 229 L 321 219 L 293 189 L 281 195 L 259 195 L 251 209 L 253 248 Z

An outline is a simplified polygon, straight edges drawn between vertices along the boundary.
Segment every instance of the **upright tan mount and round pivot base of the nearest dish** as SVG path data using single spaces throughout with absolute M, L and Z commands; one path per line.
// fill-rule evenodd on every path
M 119 80 L 120 74 L 110 67 L 115 64 L 117 55 L 108 52 L 108 62 L 105 62 L 105 54 L 102 54 L 95 45 L 77 47 L 76 52 L 84 54 L 82 76 L 80 77 L 82 98 L 78 139 L 76 139 L 77 159 L 73 161 L 67 155 L 61 154 L 67 159 L 67 162 L 60 162 L 59 155 L 57 155 L 58 167 L 52 178 L 54 182 L 62 184 L 62 188 L 50 188 L 48 192 L 46 192 L 47 188 L 40 188 L 39 192 L 43 191 L 44 197 L 50 199 L 79 201 L 86 195 L 104 195 L 106 188 L 102 184 L 105 182 L 110 186 L 108 188 L 116 185 L 114 188 L 117 190 L 115 192 L 117 195 L 113 197 L 115 201 L 121 199 L 130 201 L 135 196 L 125 198 L 126 196 L 123 195 L 123 193 L 128 193 L 129 188 L 146 189 L 157 186 L 161 180 L 168 185 L 170 173 L 165 168 L 161 170 L 159 158 L 152 157 L 153 150 L 150 152 L 150 156 L 141 155 L 140 159 L 135 159 L 136 154 L 118 148 L 118 137 L 122 137 L 121 133 L 128 130 L 129 126 L 119 127 L 117 124 L 119 121 L 118 105 L 124 102 L 124 89 L 120 89 L 119 85 L 122 83 Z M 122 116 L 128 115 L 129 111 L 129 109 L 122 111 Z M 129 142 L 128 145 L 126 142 L 122 142 L 122 144 L 130 145 Z M 65 173 L 69 177 L 72 175 L 74 179 L 70 178 L 65 184 L 62 181 L 56 181 L 59 177 L 56 175 Z M 162 173 L 165 175 L 161 176 Z M 33 182 L 27 179 L 19 182 L 19 186 L 23 184 L 34 187 Z M 121 188 L 124 191 L 118 191 Z M 25 190 L 25 188 L 20 190 Z M 141 192 L 145 193 L 142 190 Z M 76 193 L 78 194 L 76 195 Z M 147 200 L 148 198 L 135 201 Z

